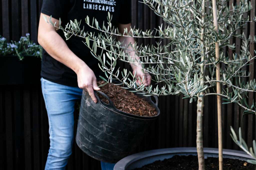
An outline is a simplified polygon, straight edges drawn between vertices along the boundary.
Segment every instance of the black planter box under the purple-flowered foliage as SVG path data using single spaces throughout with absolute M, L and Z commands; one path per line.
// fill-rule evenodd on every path
M 0 56 L 0 85 L 40 84 L 41 59 L 25 56 Z

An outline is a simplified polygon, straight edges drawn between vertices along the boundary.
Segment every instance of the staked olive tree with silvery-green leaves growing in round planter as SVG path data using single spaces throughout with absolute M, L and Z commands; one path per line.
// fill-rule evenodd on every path
M 197 102 L 197 152 L 199 169 L 205 169 L 203 152 L 203 108 L 204 97 L 218 96 L 223 104 L 236 103 L 245 109 L 245 113 L 255 113 L 255 103 L 247 104 L 247 93 L 256 92 L 255 80 L 244 82 L 249 73 L 242 68 L 255 56 L 248 52 L 248 41 L 254 37 L 238 34 L 254 18 L 244 17 L 251 9 L 250 2 L 241 0 L 239 4 L 230 4 L 228 0 L 143 0 L 167 26 L 159 25 L 154 30 L 134 28 L 120 31 L 111 23 L 108 13 L 107 23 L 99 23 L 97 18 L 85 19 L 86 24 L 100 31 L 100 34 L 86 32 L 80 28 L 82 21 L 70 21 L 63 30 L 66 39 L 78 36 L 85 39 L 84 44 L 91 54 L 99 60 L 99 67 L 105 73 L 107 82 L 118 80 L 133 92 L 143 95 L 183 95 L 190 103 Z M 227 5 L 229 3 L 229 5 Z M 48 19 L 46 18 L 48 21 Z M 51 18 L 49 21 L 52 25 Z M 61 24 L 61 21 L 60 21 Z M 123 33 L 121 33 L 123 32 Z M 134 38 L 156 38 L 154 44 L 123 44 L 116 36 Z M 241 54 L 228 56 L 224 49 L 235 48 L 230 39 L 241 38 Z M 163 44 L 163 40 L 169 43 Z M 97 52 L 101 53 L 98 54 Z M 130 52 L 135 51 L 131 56 Z M 138 59 L 139 58 L 139 59 Z M 141 69 L 152 75 L 155 85 L 145 86 L 143 80 L 136 83 L 136 72 L 121 70 L 118 61 L 140 65 Z M 225 87 L 220 89 L 220 84 Z M 215 90 L 217 87 L 217 91 Z M 230 91 L 230 88 L 232 91 Z M 212 89 L 212 90 L 211 90 Z M 210 91 L 211 90 L 211 91 Z M 220 111 L 220 105 L 218 105 Z M 219 117 L 219 161 L 222 169 L 221 113 Z

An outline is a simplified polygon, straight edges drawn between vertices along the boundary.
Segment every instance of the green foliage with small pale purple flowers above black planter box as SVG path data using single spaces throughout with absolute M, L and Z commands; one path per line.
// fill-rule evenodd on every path
M 23 60 L 24 56 L 42 58 L 42 47 L 30 40 L 29 33 L 26 37 L 20 37 L 18 42 L 11 41 L 10 43 L 0 35 L 0 55 L 17 55 L 20 60 Z

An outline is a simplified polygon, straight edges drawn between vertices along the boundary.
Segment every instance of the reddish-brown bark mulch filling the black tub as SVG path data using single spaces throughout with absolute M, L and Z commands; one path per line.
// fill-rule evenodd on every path
M 98 85 L 104 84 L 104 81 L 98 81 Z M 133 115 L 152 117 L 157 115 L 156 109 L 150 105 L 145 99 L 136 96 L 134 93 L 122 88 L 120 85 L 114 85 L 108 83 L 103 87 L 100 87 L 100 91 L 105 93 L 114 106 L 126 113 Z M 109 104 L 109 100 L 102 95 L 98 94 L 100 99 Z

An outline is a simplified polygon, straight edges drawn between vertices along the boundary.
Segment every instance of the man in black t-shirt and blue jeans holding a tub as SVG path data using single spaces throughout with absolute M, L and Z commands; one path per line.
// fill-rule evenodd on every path
M 70 20 L 82 20 L 86 16 L 97 18 L 99 23 L 106 23 L 108 12 L 113 15 L 112 23 L 119 30 L 130 29 L 130 0 L 44 0 L 38 29 L 38 42 L 44 48 L 42 58 L 41 84 L 49 119 L 50 149 L 45 170 L 63 170 L 72 152 L 74 105 L 81 99 L 82 90 L 87 90 L 92 100 L 97 103 L 94 90 L 100 90 L 97 79 L 101 73 L 98 61 L 82 39 L 72 37 L 65 40 L 61 30 L 47 24 L 43 16 L 52 16 L 52 22 L 58 27 L 59 18 L 65 26 Z M 95 32 L 85 26 L 85 31 Z M 133 38 L 119 37 L 124 44 L 134 43 Z M 131 56 L 135 52 L 130 53 Z M 149 85 L 151 76 L 143 73 L 140 65 L 132 65 L 136 76 L 145 77 Z M 101 163 L 102 169 L 113 169 L 113 164 Z

